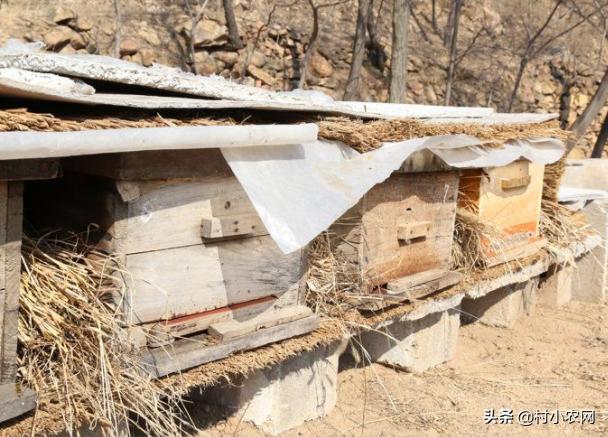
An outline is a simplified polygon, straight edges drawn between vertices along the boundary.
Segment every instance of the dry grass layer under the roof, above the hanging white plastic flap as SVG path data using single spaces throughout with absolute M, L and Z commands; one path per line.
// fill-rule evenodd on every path
M 499 147 L 509 140 L 551 137 L 565 140 L 569 133 L 556 122 L 539 124 L 479 125 L 471 123 L 425 123 L 413 119 L 363 121 L 344 117 L 326 118 L 317 123 L 319 137 L 340 141 L 359 152 L 381 147 L 385 142 L 404 141 L 435 135 L 466 134 L 484 145 Z

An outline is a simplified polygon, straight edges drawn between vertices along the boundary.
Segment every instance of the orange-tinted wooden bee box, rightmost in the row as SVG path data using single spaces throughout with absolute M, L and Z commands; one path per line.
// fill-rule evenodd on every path
M 539 235 L 543 174 L 543 165 L 526 160 L 464 171 L 459 206 L 497 232 L 484 248 L 487 266 L 532 255 L 544 246 Z

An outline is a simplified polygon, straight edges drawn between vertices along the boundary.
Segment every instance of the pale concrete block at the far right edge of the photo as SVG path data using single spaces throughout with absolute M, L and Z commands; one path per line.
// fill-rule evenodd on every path
M 602 244 L 576 262 L 572 280 L 572 298 L 586 302 L 606 301 L 606 272 L 608 268 L 608 202 L 594 201 L 583 208 L 587 222 L 601 236 Z

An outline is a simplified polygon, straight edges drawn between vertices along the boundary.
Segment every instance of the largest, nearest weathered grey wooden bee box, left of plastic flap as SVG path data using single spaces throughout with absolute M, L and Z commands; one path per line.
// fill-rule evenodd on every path
M 191 366 L 233 352 L 231 341 L 249 347 L 241 337 L 269 343 L 316 326 L 299 304 L 302 253 L 279 250 L 219 151 L 105 155 L 65 167 L 80 174 L 40 196 L 64 225 L 100 226 L 97 246 L 124 266 L 116 303 L 136 344 L 162 346 L 205 331 L 213 341 L 197 339 Z M 211 350 L 218 342 L 221 353 Z M 207 354 L 201 344 L 210 345 Z M 163 354 L 153 359 L 156 374 L 186 365 Z

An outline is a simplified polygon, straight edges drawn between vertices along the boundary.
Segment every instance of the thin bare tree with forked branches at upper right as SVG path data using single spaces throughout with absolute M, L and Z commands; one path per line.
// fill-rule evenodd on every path
M 549 47 L 555 40 L 561 38 L 562 36 L 570 33 L 578 26 L 587 21 L 591 16 L 598 13 L 597 10 L 591 12 L 590 14 L 585 15 L 580 20 L 576 21 L 574 24 L 566 27 L 564 30 L 557 32 L 547 38 L 542 38 L 545 32 L 549 29 L 551 22 L 556 17 L 557 11 L 560 7 L 565 3 L 566 0 L 556 0 L 555 4 L 551 8 L 551 11 L 545 18 L 542 25 L 536 30 L 534 33 L 530 33 L 528 28 L 526 27 L 526 42 L 524 44 L 523 52 L 521 53 L 519 60 L 519 67 L 517 69 L 517 74 L 515 76 L 515 83 L 513 84 L 513 91 L 511 92 L 511 97 L 509 99 L 509 104 L 507 106 L 507 111 L 511 112 L 513 109 L 513 105 L 515 104 L 515 99 L 517 98 L 517 93 L 519 91 L 519 87 L 521 85 L 521 81 L 523 79 L 524 73 L 526 71 L 526 67 L 530 63 L 530 61 L 534 60 L 538 57 L 543 51 Z

